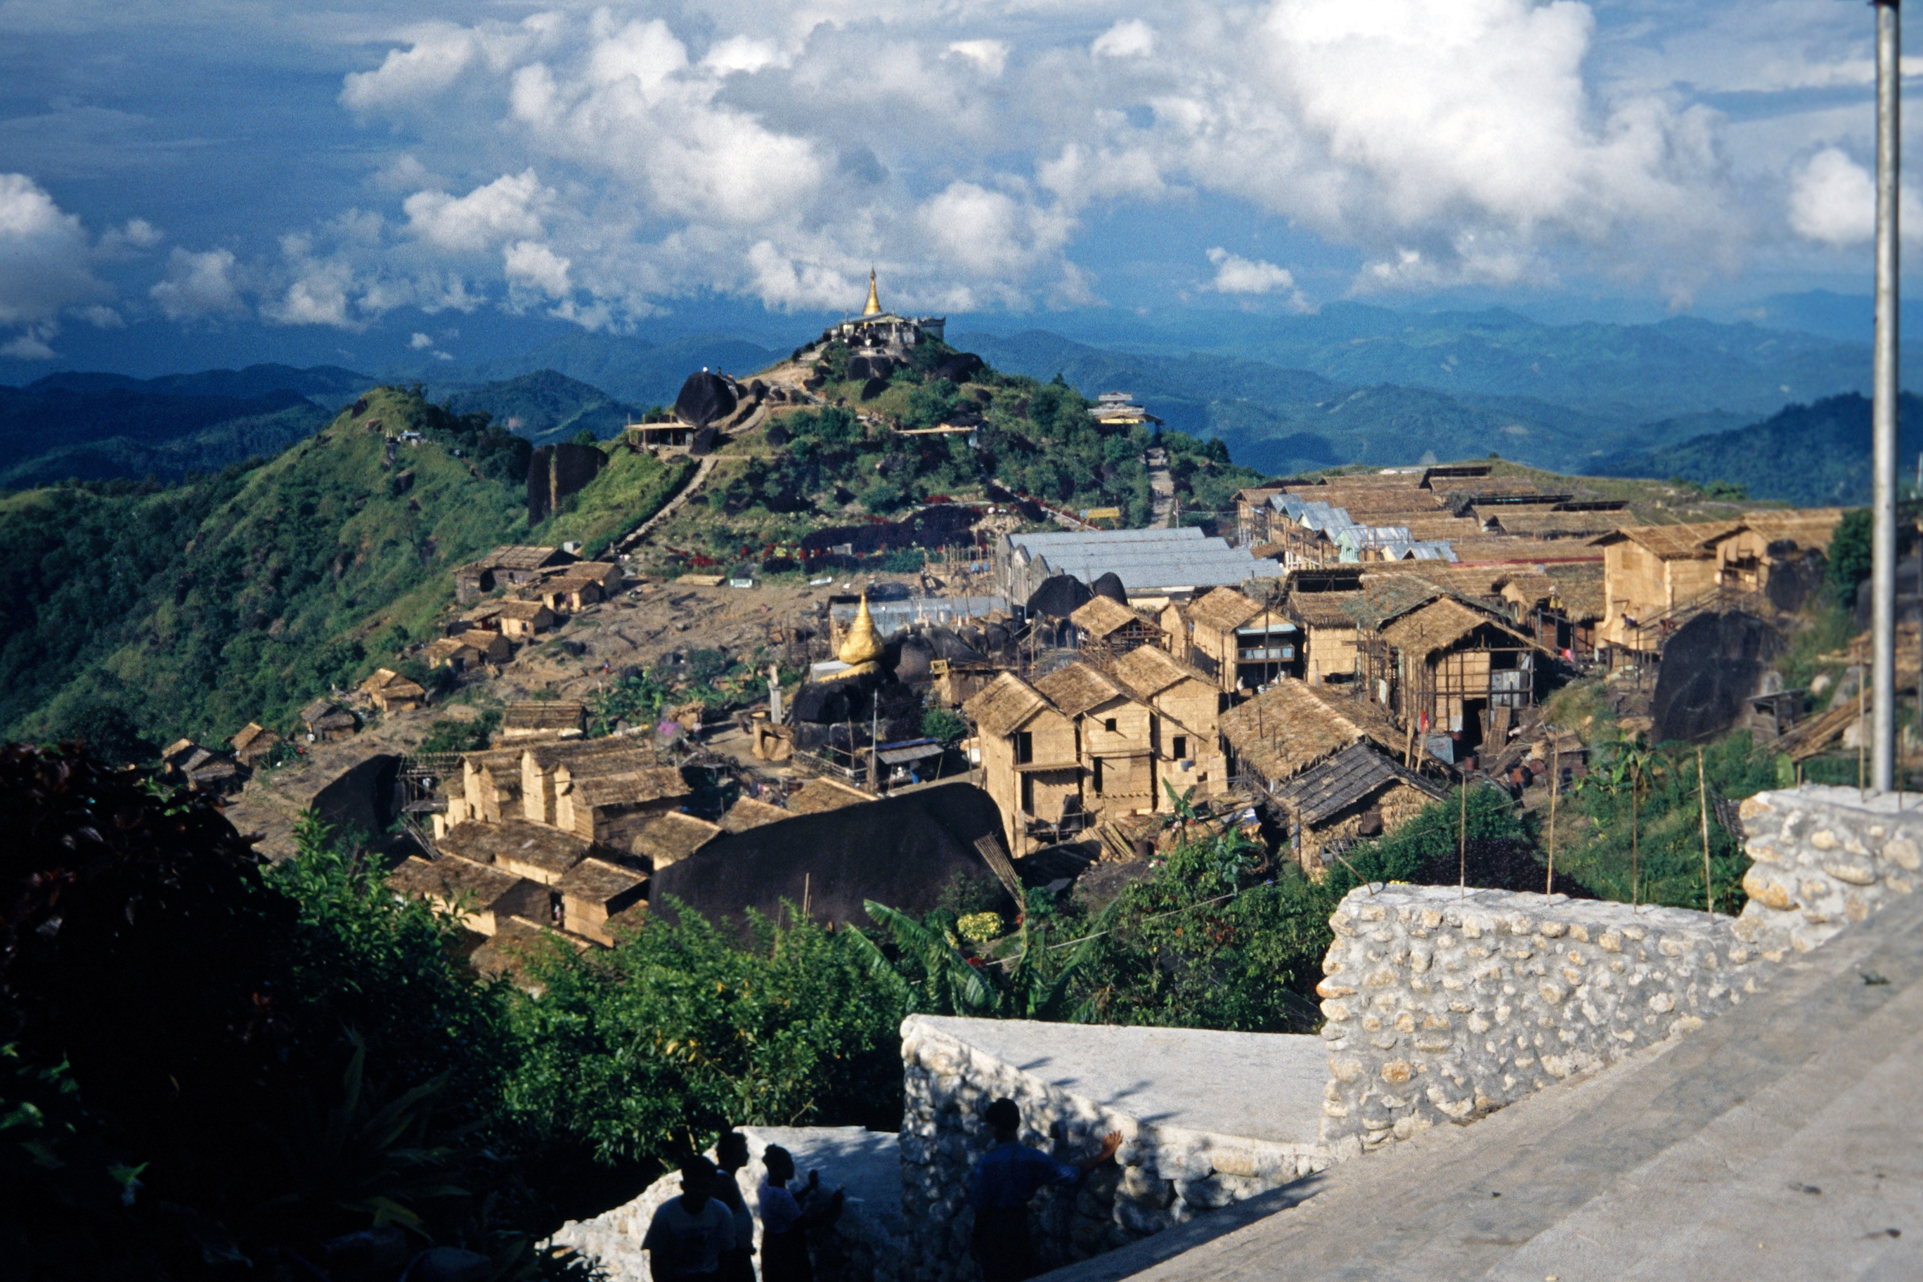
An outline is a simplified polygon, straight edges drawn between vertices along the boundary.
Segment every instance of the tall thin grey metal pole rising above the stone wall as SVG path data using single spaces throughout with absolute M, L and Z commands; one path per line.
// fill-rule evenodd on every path
M 1875 482 L 1871 490 L 1871 638 L 1875 653 L 1875 713 L 1871 723 L 1871 786 L 1890 792 L 1896 782 L 1896 206 L 1902 125 L 1902 67 L 1898 63 L 1902 0 L 1877 8 L 1877 354 L 1873 402 Z

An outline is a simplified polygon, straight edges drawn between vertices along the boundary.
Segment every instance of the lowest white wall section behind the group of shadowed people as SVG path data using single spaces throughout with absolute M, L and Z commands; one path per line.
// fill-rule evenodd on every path
M 817 1278 L 835 1282 L 904 1282 L 912 1276 L 908 1226 L 902 1222 L 902 1174 L 896 1138 L 860 1126 L 742 1126 L 748 1138 L 748 1165 L 735 1180 L 754 1211 L 754 1247 L 762 1249 L 760 1190 L 767 1169 L 762 1153 L 777 1144 L 794 1155 L 800 1192 L 810 1171 L 821 1172 L 821 1196 L 837 1188 L 846 1203 L 833 1228 L 817 1228 L 810 1253 Z M 708 1153 L 713 1157 L 713 1151 Z M 554 1245 L 571 1245 L 592 1255 L 608 1270 L 610 1282 L 650 1282 L 648 1255 L 640 1240 L 654 1213 L 669 1197 L 681 1196 L 681 1172 L 671 1171 L 625 1205 L 592 1220 L 567 1220 L 554 1234 Z

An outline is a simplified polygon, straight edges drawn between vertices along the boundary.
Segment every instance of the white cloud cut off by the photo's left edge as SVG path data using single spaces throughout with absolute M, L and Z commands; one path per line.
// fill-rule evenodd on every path
M 98 304 L 112 290 L 94 277 L 94 246 L 73 213 L 23 173 L 0 173 L 0 325 L 52 323 L 62 311 Z M 35 329 L 10 352 L 38 352 L 54 329 Z M 46 350 L 52 356 L 52 350 Z

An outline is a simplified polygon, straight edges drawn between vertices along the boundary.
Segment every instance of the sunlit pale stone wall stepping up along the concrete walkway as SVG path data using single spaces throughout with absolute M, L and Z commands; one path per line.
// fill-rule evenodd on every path
M 1336 1159 L 1469 1121 L 1690 1032 L 1923 876 L 1923 798 L 1802 786 L 1742 803 L 1736 919 L 1454 886 L 1352 890 L 1323 961 Z

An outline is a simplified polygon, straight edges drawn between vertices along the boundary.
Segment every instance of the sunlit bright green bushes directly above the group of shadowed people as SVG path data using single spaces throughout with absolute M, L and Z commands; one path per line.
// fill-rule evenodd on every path
M 902 1005 L 854 930 L 756 923 L 742 948 L 694 913 L 610 951 L 554 946 L 513 1007 L 508 1109 L 531 1142 L 600 1161 L 700 1151 L 729 1124 L 902 1121 Z

